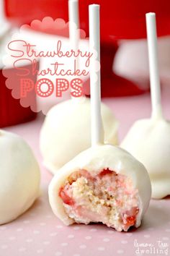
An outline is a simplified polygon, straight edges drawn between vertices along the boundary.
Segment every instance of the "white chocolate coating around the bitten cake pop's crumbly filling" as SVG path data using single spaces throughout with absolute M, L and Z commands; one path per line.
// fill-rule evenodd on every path
M 133 181 L 134 188 L 138 189 L 140 209 L 135 226 L 140 226 L 140 220 L 146 212 L 151 198 L 151 182 L 148 172 L 142 163 L 133 158 L 130 153 L 112 145 L 98 145 L 89 148 L 66 163 L 53 177 L 49 185 L 50 206 L 55 216 L 66 225 L 73 223 L 73 219 L 66 215 L 63 201 L 59 197 L 59 191 L 68 176 L 74 171 L 85 169 L 91 174 L 99 174 L 104 168 L 114 170 L 117 174 L 124 174 Z

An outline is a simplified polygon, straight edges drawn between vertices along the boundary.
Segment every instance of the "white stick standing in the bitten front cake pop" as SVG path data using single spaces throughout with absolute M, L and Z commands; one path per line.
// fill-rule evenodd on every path
M 96 72 L 97 61 L 100 61 L 99 5 L 89 5 L 89 51 L 93 53 L 90 62 L 91 93 L 91 146 L 104 143 L 104 132 L 101 117 L 100 70 Z M 97 59 L 94 54 L 97 52 Z

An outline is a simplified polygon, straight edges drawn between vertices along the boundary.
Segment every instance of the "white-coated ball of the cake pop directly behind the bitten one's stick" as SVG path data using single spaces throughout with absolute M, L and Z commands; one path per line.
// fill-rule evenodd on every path
M 102 103 L 104 142 L 117 145 L 118 123 Z M 64 101 L 48 112 L 40 132 L 40 150 L 46 168 L 53 174 L 91 145 L 89 98 Z

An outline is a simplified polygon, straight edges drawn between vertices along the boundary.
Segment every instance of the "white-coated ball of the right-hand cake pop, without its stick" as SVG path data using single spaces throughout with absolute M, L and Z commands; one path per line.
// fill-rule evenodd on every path
M 152 197 L 170 195 L 170 122 L 164 119 L 136 121 L 121 144 L 148 171 Z

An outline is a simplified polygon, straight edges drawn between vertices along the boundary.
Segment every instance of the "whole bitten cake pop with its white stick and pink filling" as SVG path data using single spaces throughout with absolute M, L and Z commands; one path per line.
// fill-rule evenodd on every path
M 95 32 L 95 33 L 94 33 Z M 99 60 L 99 6 L 89 6 L 91 52 Z M 151 182 L 142 163 L 130 153 L 103 144 L 100 72 L 91 59 L 91 148 L 66 163 L 49 186 L 50 206 L 66 225 L 101 222 L 117 231 L 140 226 L 151 198 Z

